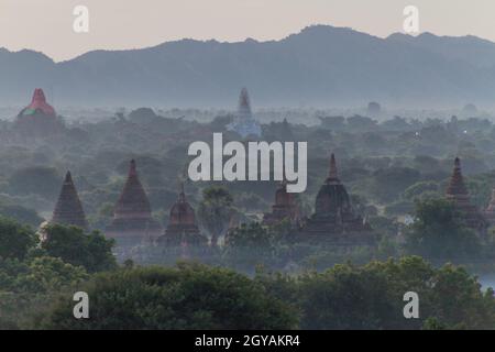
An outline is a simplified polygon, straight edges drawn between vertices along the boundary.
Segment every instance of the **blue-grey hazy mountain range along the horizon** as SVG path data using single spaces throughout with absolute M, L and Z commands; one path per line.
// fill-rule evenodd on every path
M 0 48 L 0 106 L 26 105 L 44 88 L 59 106 L 495 106 L 495 43 L 475 36 L 393 34 L 315 25 L 280 41 L 182 40 L 94 51 L 54 63 Z

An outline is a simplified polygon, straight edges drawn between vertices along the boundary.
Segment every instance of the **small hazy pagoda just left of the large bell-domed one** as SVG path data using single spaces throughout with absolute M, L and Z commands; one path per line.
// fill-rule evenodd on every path
M 288 220 L 292 224 L 297 224 L 300 220 L 296 195 L 287 193 L 286 180 L 282 182 L 275 191 L 275 204 L 271 212 L 263 215 L 263 224 L 276 224 L 283 220 Z

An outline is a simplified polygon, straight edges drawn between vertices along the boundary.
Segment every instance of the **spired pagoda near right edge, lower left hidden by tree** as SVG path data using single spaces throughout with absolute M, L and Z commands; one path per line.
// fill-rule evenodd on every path
M 464 185 L 464 178 L 462 177 L 461 160 L 459 157 L 455 157 L 454 161 L 454 168 L 449 186 L 447 187 L 446 198 L 453 201 L 461 212 L 466 227 L 475 230 L 480 234 L 486 232 L 486 220 L 476 207 L 471 205 L 470 194 Z

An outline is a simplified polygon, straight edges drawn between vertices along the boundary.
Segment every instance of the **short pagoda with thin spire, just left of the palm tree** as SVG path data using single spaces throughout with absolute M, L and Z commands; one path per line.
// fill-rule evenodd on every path
M 207 245 L 208 238 L 200 233 L 196 223 L 196 215 L 193 207 L 186 199 L 184 185 L 180 186 L 180 193 L 177 201 L 170 209 L 165 234 L 158 239 L 160 244 L 166 246 L 190 246 Z

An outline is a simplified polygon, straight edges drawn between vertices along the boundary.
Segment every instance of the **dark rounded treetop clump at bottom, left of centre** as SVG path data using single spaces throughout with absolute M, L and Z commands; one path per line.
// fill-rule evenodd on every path
M 84 288 L 90 318 L 76 320 L 69 297 L 43 321 L 50 329 L 290 329 L 290 306 L 263 285 L 199 264 L 96 275 Z

